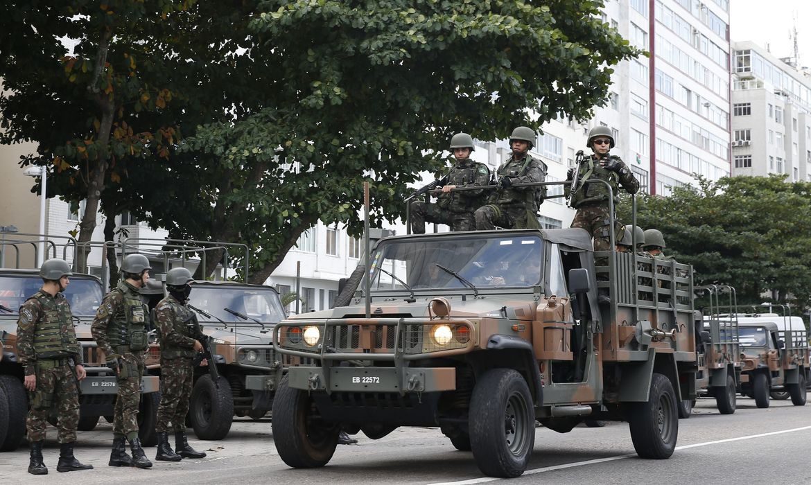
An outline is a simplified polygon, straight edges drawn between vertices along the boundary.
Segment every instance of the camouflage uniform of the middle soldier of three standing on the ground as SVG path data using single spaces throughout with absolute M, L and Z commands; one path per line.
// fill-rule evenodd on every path
M 105 296 L 90 328 L 108 359 L 120 355 L 113 435 L 126 436 L 128 440 L 138 437 L 138 404 L 144 352 L 148 349 L 148 325 L 149 312 L 140 301 L 138 288 L 122 281 Z

